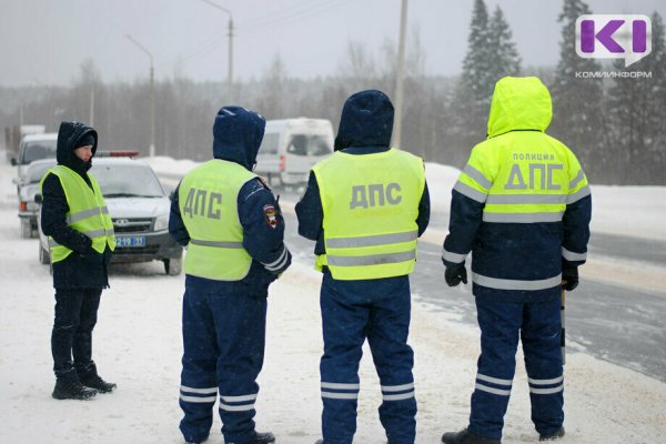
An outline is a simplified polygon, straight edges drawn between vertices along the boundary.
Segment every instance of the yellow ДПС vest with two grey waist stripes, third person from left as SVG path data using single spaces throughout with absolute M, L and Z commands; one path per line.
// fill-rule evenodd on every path
M 326 249 L 315 268 L 326 265 L 343 281 L 410 274 L 425 188 L 423 160 L 395 149 L 361 155 L 337 151 L 312 171 Z

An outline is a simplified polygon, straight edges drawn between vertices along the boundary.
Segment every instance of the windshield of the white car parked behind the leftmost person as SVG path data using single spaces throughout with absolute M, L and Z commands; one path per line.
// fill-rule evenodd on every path
M 145 164 L 95 165 L 91 173 L 104 198 L 162 198 L 164 190 L 152 169 Z

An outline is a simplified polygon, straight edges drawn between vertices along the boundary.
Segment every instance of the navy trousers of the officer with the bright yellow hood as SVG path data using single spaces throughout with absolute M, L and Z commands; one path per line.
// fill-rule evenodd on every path
M 564 422 L 559 300 L 522 303 L 477 297 L 476 310 L 481 356 L 472 394 L 470 431 L 494 440 L 502 437 L 519 334 L 532 421 L 538 433 L 555 433 Z

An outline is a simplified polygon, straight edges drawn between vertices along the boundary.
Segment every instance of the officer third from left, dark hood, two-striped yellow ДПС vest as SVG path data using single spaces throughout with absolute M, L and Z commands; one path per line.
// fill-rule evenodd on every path
M 380 376 L 380 418 L 391 444 L 415 438 L 408 274 L 430 219 L 423 160 L 390 148 L 393 104 L 377 90 L 347 99 L 335 152 L 312 169 L 296 204 L 299 233 L 316 241 L 323 272 L 323 443 L 351 444 L 359 362 L 367 339 Z

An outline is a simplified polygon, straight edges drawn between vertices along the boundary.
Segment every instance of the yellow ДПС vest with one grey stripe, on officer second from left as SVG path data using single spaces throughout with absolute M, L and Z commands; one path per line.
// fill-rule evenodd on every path
M 185 174 L 178 194 L 190 234 L 185 274 L 215 281 L 240 281 L 248 275 L 252 256 L 243 248 L 238 196 L 254 178 L 242 165 L 220 159 Z

